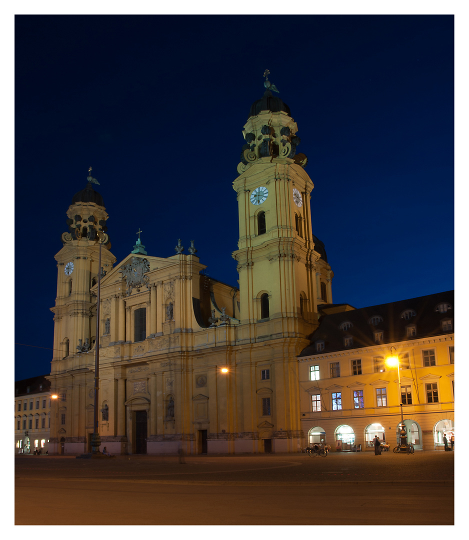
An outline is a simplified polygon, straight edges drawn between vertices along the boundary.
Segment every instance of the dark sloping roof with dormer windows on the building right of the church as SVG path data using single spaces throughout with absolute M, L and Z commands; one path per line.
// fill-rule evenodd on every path
M 440 313 L 436 310 L 440 303 L 450 305 L 446 313 Z M 409 313 L 405 315 L 407 311 Z M 305 347 L 298 356 L 317 354 L 316 343 L 318 341 L 324 342 L 321 354 L 348 348 L 369 347 L 377 345 L 377 343 L 407 341 L 409 340 L 407 327 L 412 325 L 416 326 L 414 339 L 447 334 L 448 330 L 444 330 L 441 325 L 441 321 L 447 319 L 453 321 L 451 325 L 451 332 L 453 332 L 454 291 L 331 313 L 323 316 L 320 325 L 310 336 L 310 345 Z M 343 323 L 350 323 L 350 327 L 343 325 Z M 377 331 L 383 332 L 383 339 L 378 342 L 375 340 L 375 332 Z M 349 347 L 345 347 L 344 339 L 348 337 L 352 338 L 352 342 Z

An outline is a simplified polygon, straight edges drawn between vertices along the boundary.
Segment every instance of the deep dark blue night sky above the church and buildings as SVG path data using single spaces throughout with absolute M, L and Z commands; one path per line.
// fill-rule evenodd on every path
M 266 69 L 308 156 L 334 302 L 454 287 L 452 16 L 15 23 L 16 379 L 50 372 L 54 255 L 90 165 L 118 261 L 140 228 L 148 255 L 195 240 L 207 273 L 237 284 L 232 183 Z

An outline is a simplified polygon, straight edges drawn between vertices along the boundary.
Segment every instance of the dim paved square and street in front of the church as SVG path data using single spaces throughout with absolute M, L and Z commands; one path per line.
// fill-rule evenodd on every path
M 17 525 L 444 525 L 454 453 L 15 458 Z M 27 511 L 25 511 L 28 509 Z

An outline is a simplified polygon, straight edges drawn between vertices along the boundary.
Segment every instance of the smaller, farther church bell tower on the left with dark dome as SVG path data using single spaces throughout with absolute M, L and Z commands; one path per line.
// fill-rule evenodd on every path
M 101 246 L 101 275 L 109 271 L 115 257 L 110 252 L 107 235 L 108 215 L 103 197 L 93 189 L 98 181 L 91 176 L 91 167 L 84 190 L 73 196 L 67 211 L 68 232 L 62 234 L 63 247 L 56 254 L 57 296 L 54 313 L 54 361 L 77 352 L 86 352 L 96 339 L 96 298 L 90 289 L 98 279 L 99 237 Z M 103 238 L 103 235 L 101 235 Z

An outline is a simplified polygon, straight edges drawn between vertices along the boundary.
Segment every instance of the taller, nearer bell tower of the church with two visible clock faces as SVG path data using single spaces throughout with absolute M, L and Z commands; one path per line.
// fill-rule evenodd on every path
M 273 95 L 278 90 L 268 75 L 266 70 L 266 91 L 244 125 L 246 143 L 233 183 L 239 205 L 233 257 L 240 276 L 241 323 L 280 319 L 283 335 L 305 336 L 317 325 L 317 276 L 330 280 L 333 274 L 315 251 L 314 184 L 304 170 L 307 157 L 297 153 L 297 125 L 288 105 Z

